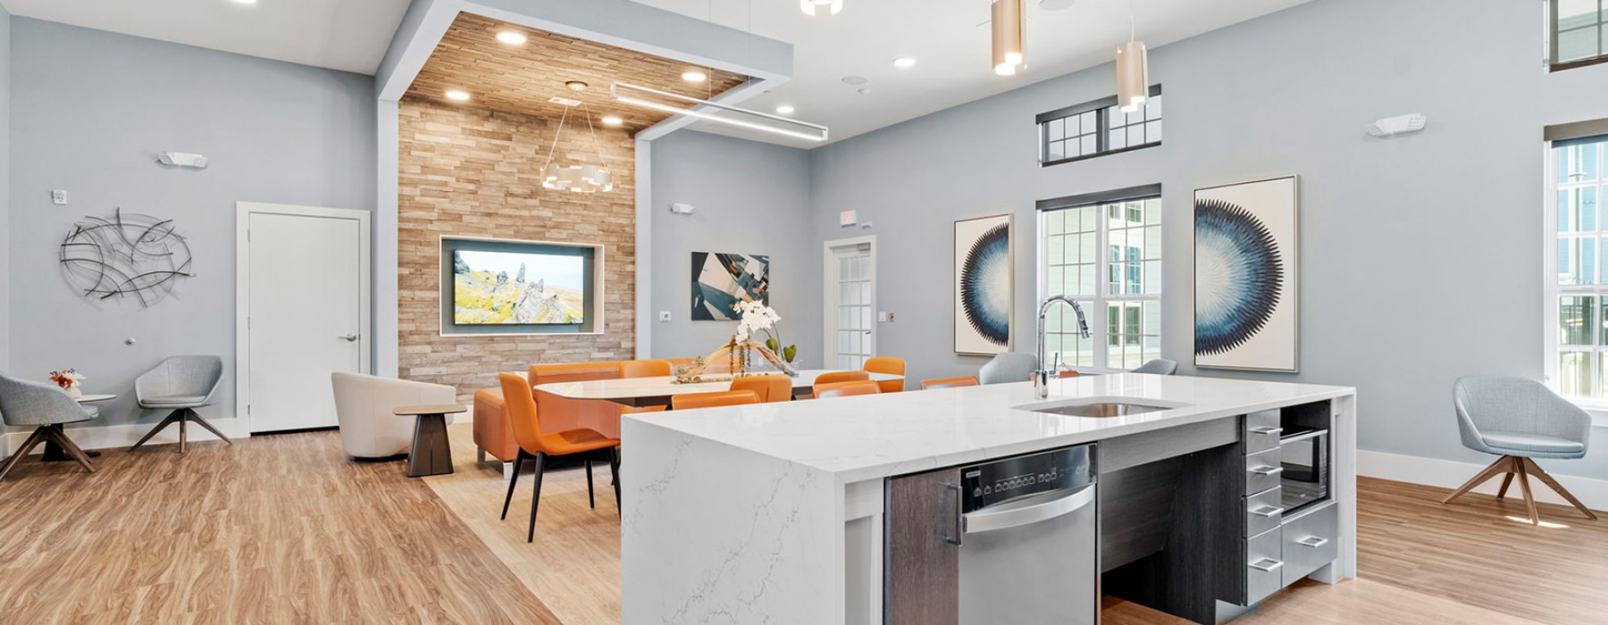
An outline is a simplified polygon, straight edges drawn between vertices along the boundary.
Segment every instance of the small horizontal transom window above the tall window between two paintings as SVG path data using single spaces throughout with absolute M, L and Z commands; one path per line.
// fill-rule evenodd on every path
M 1116 96 L 1039 114 L 1039 164 L 1055 165 L 1161 145 L 1161 85 L 1138 111 L 1122 112 Z

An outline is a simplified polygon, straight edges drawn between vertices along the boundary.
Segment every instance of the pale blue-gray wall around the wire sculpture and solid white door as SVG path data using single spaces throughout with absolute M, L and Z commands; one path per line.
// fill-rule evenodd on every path
M 150 423 L 161 415 L 133 408 L 133 378 L 217 353 L 225 382 L 203 415 L 233 416 L 235 202 L 371 207 L 373 77 L 24 18 L 11 35 L 11 371 L 76 366 L 88 392 L 121 395 L 90 426 Z M 170 149 L 211 167 L 159 167 Z M 58 188 L 68 206 L 50 204 Z M 198 276 L 150 308 L 74 292 L 56 246 L 116 207 L 174 219 Z

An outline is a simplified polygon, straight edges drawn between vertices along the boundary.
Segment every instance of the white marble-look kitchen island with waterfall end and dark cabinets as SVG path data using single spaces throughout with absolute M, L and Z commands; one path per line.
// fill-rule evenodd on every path
M 1151 410 L 1101 418 L 1034 410 L 1090 403 Z M 889 524 L 889 479 L 1084 443 L 1095 443 L 1093 472 L 1105 482 L 1105 527 L 1089 548 L 1105 559 L 1108 594 L 1196 622 L 1212 620 L 1214 603 L 1219 617 L 1232 615 L 1282 586 L 1283 508 L 1257 503 L 1274 490 L 1256 485 L 1267 477 L 1277 485 L 1282 469 L 1265 458 L 1277 453 L 1280 418 L 1327 426 L 1319 503 L 1335 525 L 1330 538 L 1285 541 L 1333 556 L 1312 577 L 1352 577 L 1349 387 L 1114 374 L 1052 381 L 1047 400 L 1021 382 L 627 416 L 622 620 L 912 622 L 897 612 L 900 598 L 884 596 L 904 570 L 884 561 L 888 533 L 900 530 Z M 1159 522 L 1135 514 L 1145 501 L 1161 506 Z M 1145 519 L 1116 521 L 1135 517 Z M 1267 519 L 1272 532 L 1251 527 Z M 1274 556 L 1257 554 L 1269 541 Z M 941 586 L 937 601 L 952 601 L 947 594 Z

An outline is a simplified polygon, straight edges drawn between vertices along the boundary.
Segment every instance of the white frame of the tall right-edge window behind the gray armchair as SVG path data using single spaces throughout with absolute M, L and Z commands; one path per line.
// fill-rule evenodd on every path
M 1608 156 L 1608 149 L 1598 154 L 1598 159 Z M 1547 387 L 1558 392 L 1558 355 L 1563 352 L 1558 344 L 1558 297 L 1568 294 L 1598 294 L 1608 297 L 1608 283 L 1605 283 L 1602 270 L 1598 268 L 1597 281 L 1598 284 L 1585 288 L 1565 288 L 1558 284 L 1558 154 L 1552 141 L 1544 143 L 1542 157 L 1545 159 L 1545 174 L 1542 180 L 1542 204 L 1545 206 L 1542 215 L 1542 373 L 1545 376 Z M 1605 164 L 1598 161 L 1598 167 Z M 1600 175 L 1600 174 L 1598 174 Z M 1598 227 L 1602 227 L 1602 206 L 1603 198 L 1598 194 Z M 1603 251 L 1597 251 L 1598 265 L 1603 263 Z M 1602 315 L 1602 310 L 1597 312 Z M 1598 326 L 1602 318 L 1598 318 Z M 1598 341 L 1602 342 L 1602 341 Z M 1595 353 L 1608 353 L 1608 345 L 1595 345 Z M 1600 376 L 1600 373 L 1598 373 Z M 1560 395 L 1563 395 L 1560 392 Z M 1608 427 L 1608 397 L 1569 397 L 1563 395 L 1566 400 L 1584 408 L 1592 415 L 1592 424 L 1597 427 Z

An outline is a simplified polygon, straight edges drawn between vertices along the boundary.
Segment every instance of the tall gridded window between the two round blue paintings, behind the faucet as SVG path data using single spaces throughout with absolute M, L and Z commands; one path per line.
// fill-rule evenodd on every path
M 1132 370 L 1161 357 L 1161 185 L 1039 202 L 1039 299 L 1073 296 L 1045 318 L 1045 365 Z

